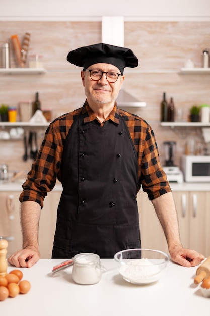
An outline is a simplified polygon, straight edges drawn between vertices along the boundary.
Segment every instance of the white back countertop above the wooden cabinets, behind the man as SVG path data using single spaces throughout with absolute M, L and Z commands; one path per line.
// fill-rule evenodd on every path
M 1 182 L 0 181 L 0 192 L 21 192 L 22 191 L 22 184 L 25 180 L 17 181 L 17 182 Z M 207 183 L 170 183 L 172 191 L 196 191 L 196 192 L 204 192 L 210 191 L 210 182 Z M 56 183 L 53 191 L 62 191 L 62 185 L 60 182 Z

